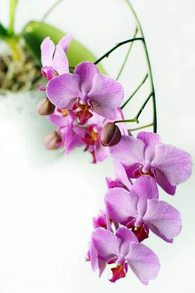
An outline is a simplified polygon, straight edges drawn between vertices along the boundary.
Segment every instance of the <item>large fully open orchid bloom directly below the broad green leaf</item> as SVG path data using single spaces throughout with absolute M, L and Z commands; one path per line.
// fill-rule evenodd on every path
M 48 99 L 58 108 L 79 109 L 76 116 L 80 125 L 88 122 L 93 111 L 114 120 L 115 110 L 124 97 L 120 83 L 100 74 L 98 67 L 87 61 L 79 63 L 74 74 L 64 73 L 51 79 L 46 86 L 46 92 Z

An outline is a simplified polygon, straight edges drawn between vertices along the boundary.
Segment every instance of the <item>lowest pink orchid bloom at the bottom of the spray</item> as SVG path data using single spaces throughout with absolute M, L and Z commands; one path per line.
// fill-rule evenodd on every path
M 110 189 L 112 190 L 112 189 Z M 101 261 L 99 266 L 98 261 Z M 115 263 L 111 269 L 111 282 L 125 277 L 128 265 L 139 280 L 148 285 L 148 280 L 155 279 L 160 263 L 156 254 L 147 246 L 138 242 L 136 235 L 129 229 L 121 227 L 116 234 L 109 230 L 95 229 L 91 237 L 91 264 L 93 271 L 105 268 L 106 263 Z

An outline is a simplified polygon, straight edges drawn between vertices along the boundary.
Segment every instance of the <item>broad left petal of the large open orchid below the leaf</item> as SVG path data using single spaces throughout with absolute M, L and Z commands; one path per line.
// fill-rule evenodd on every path
M 79 94 L 78 82 L 78 75 L 71 73 L 53 78 L 46 86 L 48 99 L 58 108 L 71 109 Z

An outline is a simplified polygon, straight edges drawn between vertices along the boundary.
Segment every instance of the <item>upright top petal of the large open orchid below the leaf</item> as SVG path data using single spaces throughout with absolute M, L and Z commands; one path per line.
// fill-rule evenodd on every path
M 95 75 L 100 74 L 100 72 L 94 63 L 84 61 L 77 65 L 74 74 L 79 76 L 79 89 L 84 95 L 90 92 L 93 84 L 93 78 Z

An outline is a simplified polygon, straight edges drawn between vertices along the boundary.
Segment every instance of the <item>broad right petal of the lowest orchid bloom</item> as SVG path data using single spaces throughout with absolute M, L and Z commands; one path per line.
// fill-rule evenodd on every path
M 142 282 L 155 279 L 160 270 L 157 255 L 142 243 L 131 242 L 130 251 L 125 258 Z

